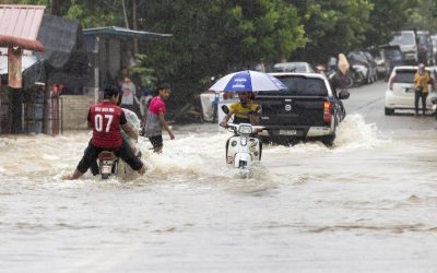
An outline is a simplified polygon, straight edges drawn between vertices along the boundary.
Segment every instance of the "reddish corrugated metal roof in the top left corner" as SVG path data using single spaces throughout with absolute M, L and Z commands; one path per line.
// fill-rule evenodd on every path
M 44 5 L 0 4 L 0 35 L 36 39 Z

